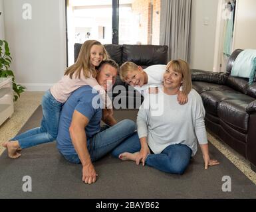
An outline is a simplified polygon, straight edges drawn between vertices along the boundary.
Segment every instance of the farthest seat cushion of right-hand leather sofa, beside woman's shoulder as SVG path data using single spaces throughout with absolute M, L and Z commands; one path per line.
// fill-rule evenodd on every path
M 231 87 L 227 87 L 226 85 L 218 85 L 215 83 L 209 83 L 205 81 L 192 81 L 193 89 L 195 89 L 199 94 L 205 91 L 233 91 Z

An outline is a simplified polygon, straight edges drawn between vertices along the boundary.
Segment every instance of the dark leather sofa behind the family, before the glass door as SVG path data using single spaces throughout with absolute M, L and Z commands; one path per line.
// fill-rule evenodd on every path
M 78 57 L 81 46 L 82 44 L 74 44 L 74 61 Z M 104 47 L 112 60 L 120 66 L 127 61 L 134 62 L 142 68 L 168 62 L 168 46 L 104 44 Z M 132 86 L 122 82 L 119 76 L 112 93 L 108 94 L 112 97 L 116 109 L 138 109 L 143 101 L 142 95 Z

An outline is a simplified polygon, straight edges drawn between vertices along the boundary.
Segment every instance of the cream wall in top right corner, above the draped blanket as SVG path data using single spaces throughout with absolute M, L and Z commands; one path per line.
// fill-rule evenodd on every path
M 256 1 L 237 1 L 233 49 L 256 49 Z

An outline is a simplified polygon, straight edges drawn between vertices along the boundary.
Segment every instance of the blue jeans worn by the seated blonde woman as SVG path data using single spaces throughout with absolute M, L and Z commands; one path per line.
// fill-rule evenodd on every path
M 134 133 L 134 139 L 122 142 L 114 149 L 112 155 L 116 158 L 123 152 L 139 152 L 140 141 L 138 134 Z M 162 172 L 170 174 L 184 174 L 190 164 L 192 150 L 184 144 L 171 144 L 167 146 L 160 154 L 148 154 L 145 164 L 152 166 Z

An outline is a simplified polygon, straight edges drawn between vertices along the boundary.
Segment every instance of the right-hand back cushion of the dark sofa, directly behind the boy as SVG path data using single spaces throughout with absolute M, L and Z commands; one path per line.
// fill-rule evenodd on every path
M 138 66 L 167 64 L 168 46 L 158 45 L 122 45 L 122 62 L 134 62 Z

